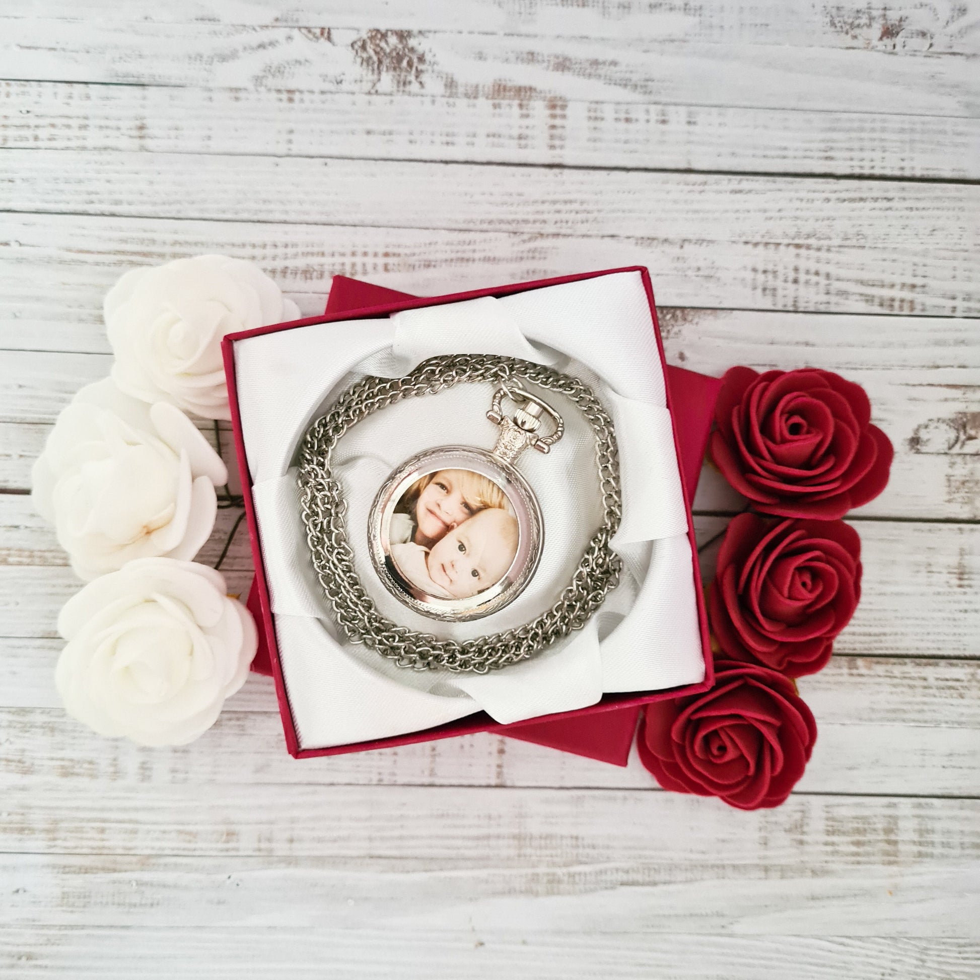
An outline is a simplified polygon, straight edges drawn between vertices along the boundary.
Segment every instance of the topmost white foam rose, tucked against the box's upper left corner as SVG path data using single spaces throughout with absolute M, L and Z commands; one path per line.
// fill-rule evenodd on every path
M 300 316 L 265 272 L 223 255 L 126 272 L 104 311 L 120 388 L 205 418 L 231 417 L 221 338 Z

